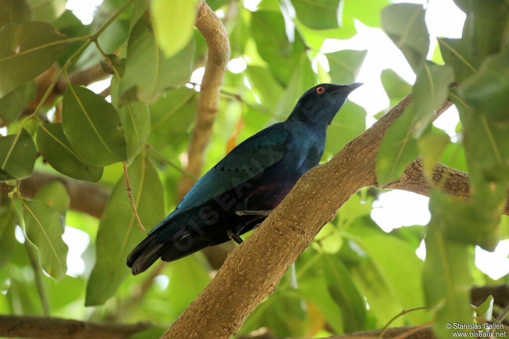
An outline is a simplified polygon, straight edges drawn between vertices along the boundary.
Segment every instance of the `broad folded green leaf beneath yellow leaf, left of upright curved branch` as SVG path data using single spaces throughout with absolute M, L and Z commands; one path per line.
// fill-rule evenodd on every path
M 191 40 L 174 56 L 165 57 L 159 50 L 150 22 L 140 17 L 128 41 L 120 103 L 154 102 L 162 90 L 185 84 L 191 76 L 193 53 L 194 40 Z

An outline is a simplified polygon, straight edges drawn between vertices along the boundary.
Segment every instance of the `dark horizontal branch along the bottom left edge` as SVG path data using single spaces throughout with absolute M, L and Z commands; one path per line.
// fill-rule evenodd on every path
M 152 327 L 148 323 L 100 324 L 61 318 L 0 316 L 0 336 L 38 339 L 121 339 Z

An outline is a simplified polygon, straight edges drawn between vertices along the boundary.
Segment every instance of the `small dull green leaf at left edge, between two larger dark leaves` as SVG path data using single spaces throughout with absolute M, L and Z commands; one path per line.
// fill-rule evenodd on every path
M 35 94 L 35 83 L 29 81 L 0 98 L 0 121 L 11 124 L 34 101 Z

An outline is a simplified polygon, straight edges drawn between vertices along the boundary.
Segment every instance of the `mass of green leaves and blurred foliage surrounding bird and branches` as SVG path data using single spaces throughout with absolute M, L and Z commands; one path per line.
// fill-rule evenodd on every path
M 105 0 L 88 25 L 65 4 L 0 1 L 0 119 L 9 135 L 0 139 L 0 178 L 14 192 L 16 180 L 33 171 L 98 181 L 110 198 L 101 220 L 69 209 L 65 187 L 58 182 L 45 186 L 34 200 L 16 193 L 2 198 L 0 313 L 150 321 L 164 328 L 207 285 L 214 269 L 203 253 L 197 253 L 130 275 L 125 257 L 144 235 L 128 205 L 122 161 L 129 163 L 134 201 L 150 230 L 178 203 L 178 183 L 186 175 L 182 168 L 200 89 L 188 83 L 192 72 L 204 66 L 207 50 L 192 28 L 195 2 L 171 8 L 174 5 L 154 0 L 149 9 L 148 2 L 136 0 L 108 21 L 127 2 Z M 474 245 L 493 250 L 508 234 L 507 218 L 499 215 L 509 166 L 509 121 L 501 108 L 506 107 L 509 88 L 509 4 L 456 0 L 467 14 L 463 37 L 440 39 L 432 53 L 421 5 L 263 0 L 253 12 L 241 1 L 208 4 L 223 16 L 232 58 L 242 58 L 247 67 L 225 75 L 204 170 L 245 138 L 284 120 L 309 87 L 354 82 L 366 51 L 324 55 L 320 48 L 326 39 L 354 37 L 355 22 L 360 21 L 382 27 L 417 75 L 413 87 L 393 70 L 380 75 L 390 106 L 410 92 L 414 104 L 382 141 L 379 183 L 397 179 L 420 155 L 428 166 L 440 160 L 468 171 L 476 192 L 469 205 L 438 192 L 432 196 L 426 240 L 431 255 L 423 262 L 415 251 L 425 226 L 384 232 L 370 216 L 381 191 L 361 190 L 323 228 L 239 334 L 261 327 L 275 337 L 370 330 L 383 327 L 403 309 L 425 305 L 432 310 L 410 313 L 392 325 L 470 319 L 468 287 L 507 282 L 506 276 L 493 281 L 478 270 Z M 175 26 L 184 28 L 176 33 Z M 97 44 L 81 38 L 89 35 Z M 36 50 L 16 55 L 14 46 Z M 318 63 L 315 72 L 317 56 L 325 57 L 329 68 Z M 72 81 L 73 75 L 99 64 L 110 73 L 108 93 L 100 96 L 66 85 L 65 74 Z M 55 77 L 59 70 L 65 72 Z M 65 93 L 51 91 L 41 100 L 41 77 L 33 79 L 43 72 Z M 458 87 L 449 89 L 454 81 Z M 452 140 L 430 125 L 434 110 L 447 97 L 457 105 L 463 122 Z M 38 102 L 42 104 L 36 108 Z M 90 114 L 95 129 L 87 127 L 82 111 Z M 365 128 L 364 108 L 347 102 L 329 127 L 323 160 Z M 437 251 L 444 244 L 446 252 Z M 68 254 L 82 261 L 67 265 Z M 136 337 L 143 335 L 155 336 L 151 330 Z

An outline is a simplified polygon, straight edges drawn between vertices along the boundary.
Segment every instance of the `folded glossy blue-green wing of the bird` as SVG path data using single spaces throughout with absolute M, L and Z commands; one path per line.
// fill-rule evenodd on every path
M 260 175 L 285 156 L 289 140 L 290 132 L 285 123 L 280 122 L 240 143 L 194 184 L 177 208 L 151 233 L 177 215 L 201 206 Z

